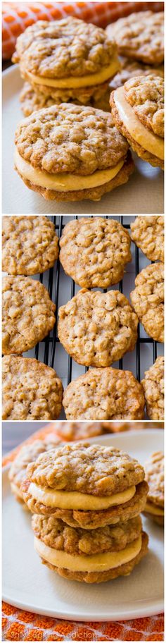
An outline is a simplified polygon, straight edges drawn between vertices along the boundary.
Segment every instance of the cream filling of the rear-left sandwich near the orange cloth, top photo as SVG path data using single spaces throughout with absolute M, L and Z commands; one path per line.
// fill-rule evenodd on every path
M 103 67 L 101 71 L 94 74 L 87 74 L 85 76 L 70 76 L 69 78 L 45 78 L 45 76 L 38 76 L 27 71 L 26 74 L 31 82 L 37 85 L 46 85 L 47 87 L 64 87 L 81 89 L 81 87 L 91 87 L 91 85 L 101 85 L 102 82 L 114 76 L 120 69 L 120 62 L 115 57 L 110 65 Z

